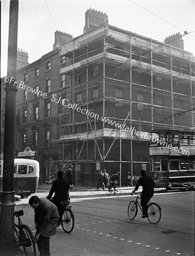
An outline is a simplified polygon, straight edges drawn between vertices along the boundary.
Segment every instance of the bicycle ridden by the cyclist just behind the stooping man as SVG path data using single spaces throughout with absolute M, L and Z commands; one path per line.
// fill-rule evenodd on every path
M 53 199 L 49 199 L 53 203 Z M 63 211 L 62 219 L 60 220 L 62 229 L 66 233 L 70 233 L 74 229 L 74 213 L 71 210 L 71 205 L 69 205 L 69 200 L 60 201 L 60 207 Z

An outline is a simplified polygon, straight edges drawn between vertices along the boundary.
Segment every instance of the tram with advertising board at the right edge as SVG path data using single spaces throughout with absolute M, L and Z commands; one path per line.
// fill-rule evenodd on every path
M 149 150 L 151 177 L 156 188 L 194 189 L 195 133 L 192 130 L 153 130 Z

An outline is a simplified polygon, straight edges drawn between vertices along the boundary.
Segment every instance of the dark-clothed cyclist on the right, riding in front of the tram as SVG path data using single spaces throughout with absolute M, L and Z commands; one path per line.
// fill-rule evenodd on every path
M 142 218 L 147 218 L 147 204 L 154 195 L 154 181 L 149 175 L 146 174 L 145 170 L 141 170 L 141 177 L 139 177 L 138 183 L 133 192 L 137 191 L 140 185 L 143 188 L 141 195 L 141 207 L 143 210 Z

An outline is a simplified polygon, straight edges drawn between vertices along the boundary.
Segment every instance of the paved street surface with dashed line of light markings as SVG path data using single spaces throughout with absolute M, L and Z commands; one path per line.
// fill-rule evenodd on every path
M 45 197 L 48 191 L 37 195 Z M 51 255 L 194 255 L 194 192 L 155 194 L 152 201 L 162 207 L 158 225 L 141 214 L 134 221 L 128 219 L 133 198 L 75 195 L 71 199 L 75 228 L 71 234 L 58 228 L 50 240 Z M 32 224 L 35 232 L 28 199 L 16 201 L 15 208 L 24 209 L 23 222 Z

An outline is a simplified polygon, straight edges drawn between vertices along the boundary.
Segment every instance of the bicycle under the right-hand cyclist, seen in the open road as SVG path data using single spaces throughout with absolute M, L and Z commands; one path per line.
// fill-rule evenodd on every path
M 131 201 L 129 203 L 129 206 L 128 206 L 129 220 L 134 220 L 134 218 L 137 216 L 138 206 L 141 209 L 142 214 L 143 214 L 142 207 L 138 202 L 138 199 L 141 199 L 141 195 L 139 195 L 139 193 L 136 193 L 136 192 L 134 192 L 134 193 L 137 195 L 137 198 L 135 201 Z M 132 192 L 132 196 L 133 196 L 133 192 Z M 149 220 L 149 222 L 151 224 L 158 224 L 158 222 L 160 221 L 160 218 L 161 218 L 160 206 L 156 203 L 151 203 L 149 200 L 149 204 L 147 206 L 147 214 L 148 214 L 147 219 Z

